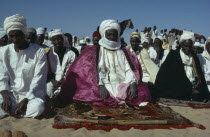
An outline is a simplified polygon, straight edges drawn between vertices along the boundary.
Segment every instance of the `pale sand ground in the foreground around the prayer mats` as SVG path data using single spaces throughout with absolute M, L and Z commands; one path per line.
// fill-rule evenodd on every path
M 206 130 L 198 128 L 187 129 L 153 129 L 138 130 L 130 129 L 121 131 L 113 129 L 110 132 L 97 130 L 88 131 L 85 128 L 73 129 L 53 129 L 53 118 L 50 119 L 17 119 L 7 117 L 0 120 L 0 131 L 24 131 L 28 137 L 210 137 L 210 109 L 192 109 L 188 107 L 171 107 L 174 111 L 182 114 L 195 123 L 202 124 Z

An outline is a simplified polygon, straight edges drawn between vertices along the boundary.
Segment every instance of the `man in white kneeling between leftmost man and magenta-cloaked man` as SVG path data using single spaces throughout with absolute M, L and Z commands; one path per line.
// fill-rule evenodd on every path
M 66 75 L 66 71 L 74 62 L 76 55 L 70 50 L 65 36 L 60 29 L 55 29 L 49 33 L 49 38 L 53 44 L 48 54 L 49 71 L 52 75 L 48 78 L 47 95 L 52 98 L 60 93 L 60 85 Z M 48 75 L 49 77 L 50 75 Z

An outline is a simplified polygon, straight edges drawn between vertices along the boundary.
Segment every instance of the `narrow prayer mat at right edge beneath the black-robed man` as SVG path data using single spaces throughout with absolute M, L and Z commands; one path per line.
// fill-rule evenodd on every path
M 210 102 L 203 103 L 203 102 L 197 102 L 197 101 L 160 98 L 159 103 L 162 103 L 168 106 L 191 107 L 193 109 L 210 108 Z

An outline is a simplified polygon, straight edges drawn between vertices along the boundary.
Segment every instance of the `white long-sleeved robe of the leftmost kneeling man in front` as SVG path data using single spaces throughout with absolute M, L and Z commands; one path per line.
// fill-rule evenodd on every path
M 0 91 L 9 91 L 12 109 L 27 98 L 29 102 L 23 117 L 40 115 L 44 111 L 46 95 L 47 58 L 44 49 L 30 44 L 17 53 L 14 44 L 9 44 L 0 50 L 0 66 Z

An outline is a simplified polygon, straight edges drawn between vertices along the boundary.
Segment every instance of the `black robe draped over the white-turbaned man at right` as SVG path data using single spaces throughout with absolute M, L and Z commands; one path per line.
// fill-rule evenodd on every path
M 209 99 L 209 91 L 205 82 L 203 72 L 196 54 L 192 53 L 201 84 L 196 88 L 199 94 L 192 95 L 192 83 L 186 76 L 184 64 L 180 56 L 180 50 L 171 50 L 161 65 L 155 81 L 154 97 L 170 99 L 184 99 L 202 101 Z

